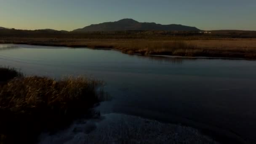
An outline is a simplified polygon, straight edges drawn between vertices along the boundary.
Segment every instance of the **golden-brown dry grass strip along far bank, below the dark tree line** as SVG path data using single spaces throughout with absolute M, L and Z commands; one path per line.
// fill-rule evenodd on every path
M 14 38 L 5 43 L 88 48 L 113 48 L 142 55 L 208 56 L 256 59 L 256 39 L 211 40 Z

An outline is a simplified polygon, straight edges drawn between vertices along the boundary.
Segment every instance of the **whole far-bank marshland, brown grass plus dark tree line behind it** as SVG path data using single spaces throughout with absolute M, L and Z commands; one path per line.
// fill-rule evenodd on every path
M 128 54 L 256 59 L 256 32 L 48 32 L 3 31 L 0 43 L 111 48 Z

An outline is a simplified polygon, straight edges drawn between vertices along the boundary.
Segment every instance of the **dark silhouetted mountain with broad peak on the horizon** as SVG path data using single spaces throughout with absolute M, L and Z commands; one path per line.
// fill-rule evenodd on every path
M 156 24 L 139 22 L 133 19 L 121 19 L 115 22 L 104 22 L 92 24 L 82 29 L 75 29 L 75 32 L 96 32 L 96 31 L 124 31 L 124 30 L 166 30 L 166 31 L 200 31 L 196 27 L 183 26 L 181 24 Z

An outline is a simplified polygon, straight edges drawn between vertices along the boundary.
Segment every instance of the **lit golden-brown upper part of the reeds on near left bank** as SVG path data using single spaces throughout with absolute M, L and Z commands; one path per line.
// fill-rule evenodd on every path
M 16 113 L 32 113 L 35 109 L 50 107 L 51 111 L 66 115 L 72 102 L 80 103 L 80 100 L 86 99 L 83 101 L 86 107 L 97 102 L 96 87 L 99 84 L 83 77 L 68 77 L 60 81 L 48 77 L 15 78 L 0 89 L 0 108 Z M 93 99 L 88 101 L 88 98 Z

